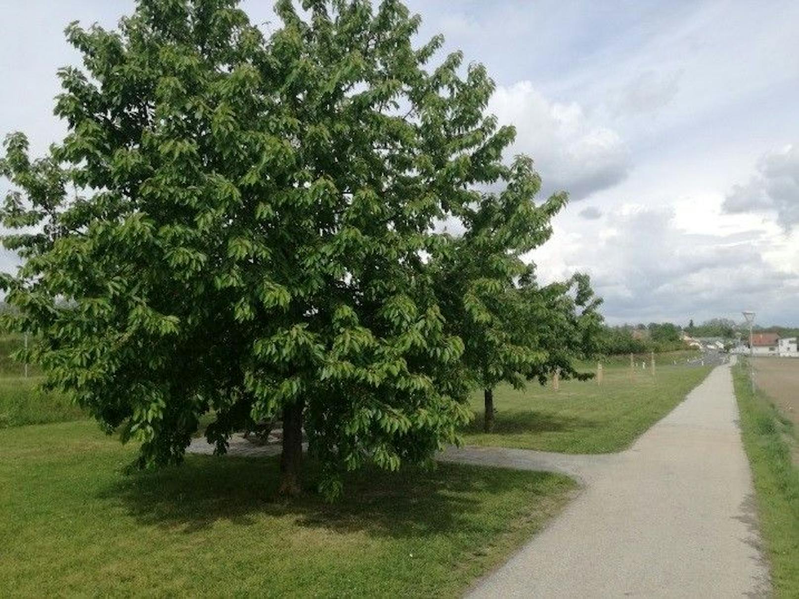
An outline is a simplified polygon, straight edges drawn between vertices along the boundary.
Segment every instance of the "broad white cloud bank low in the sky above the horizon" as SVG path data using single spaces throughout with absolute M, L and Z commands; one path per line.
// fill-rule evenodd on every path
M 770 262 L 773 249 L 766 231 L 694 234 L 678 227 L 670 207 L 626 204 L 578 237 L 562 238 L 556 227 L 531 258 L 544 280 L 590 274 L 611 322 L 735 317 L 745 305 L 779 321 L 799 314 L 791 305 L 799 274 Z

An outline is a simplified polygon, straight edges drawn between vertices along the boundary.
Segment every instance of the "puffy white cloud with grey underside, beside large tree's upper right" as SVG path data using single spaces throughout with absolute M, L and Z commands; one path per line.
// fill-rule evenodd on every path
M 610 128 L 595 124 L 576 102 L 543 97 L 530 81 L 499 86 L 488 111 L 516 127 L 515 152 L 535 160 L 546 190 L 565 189 L 571 199 L 612 187 L 627 174 L 630 155 Z

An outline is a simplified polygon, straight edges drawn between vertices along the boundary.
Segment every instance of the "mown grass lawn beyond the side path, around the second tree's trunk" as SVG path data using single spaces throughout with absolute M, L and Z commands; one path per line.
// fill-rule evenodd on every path
M 620 451 L 666 416 L 711 369 L 669 364 L 658 366 L 654 379 L 650 370 L 637 370 L 630 380 L 629 367 L 611 365 L 601 386 L 596 380 L 568 380 L 561 381 L 558 392 L 537 383 L 523 391 L 497 388 L 490 434 L 483 433 L 483 393 L 477 392 L 471 398 L 475 420 L 464 441 L 565 453 Z

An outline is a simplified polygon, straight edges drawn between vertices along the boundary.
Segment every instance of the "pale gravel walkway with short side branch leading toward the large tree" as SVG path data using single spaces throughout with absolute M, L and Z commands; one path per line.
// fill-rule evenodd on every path
M 553 458 L 468 448 L 460 457 L 449 453 L 471 463 L 535 464 L 586 483 L 559 518 L 470 596 L 769 594 L 736 420 L 732 377 L 724 365 L 617 455 Z

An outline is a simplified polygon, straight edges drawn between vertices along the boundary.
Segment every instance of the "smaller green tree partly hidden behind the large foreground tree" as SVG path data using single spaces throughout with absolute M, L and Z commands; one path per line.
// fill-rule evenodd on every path
M 535 265 L 523 254 L 546 242 L 551 218 L 566 204 L 564 192 L 536 205 L 540 179 L 530 159 L 513 166 L 518 179 L 501 193 L 484 193 L 460 219 L 465 232 L 440 261 L 443 313 L 465 341 L 463 362 L 485 392 L 485 429 L 493 424 L 493 389 L 522 388 L 554 372 L 581 376 L 576 357 L 594 353 L 601 317 L 588 278 L 539 286 Z

